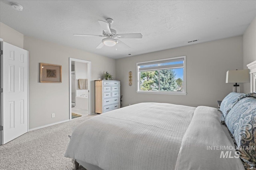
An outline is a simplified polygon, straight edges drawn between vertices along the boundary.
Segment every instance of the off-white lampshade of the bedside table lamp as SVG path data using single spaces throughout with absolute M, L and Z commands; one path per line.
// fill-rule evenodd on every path
M 226 83 L 248 83 L 249 70 L 228 70 L 226 73 Z

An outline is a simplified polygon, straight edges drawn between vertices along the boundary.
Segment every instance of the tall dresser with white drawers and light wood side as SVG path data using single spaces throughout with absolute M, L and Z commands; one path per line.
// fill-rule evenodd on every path
M 120 108 L 120 81 L 95 80 L 95 113 Z

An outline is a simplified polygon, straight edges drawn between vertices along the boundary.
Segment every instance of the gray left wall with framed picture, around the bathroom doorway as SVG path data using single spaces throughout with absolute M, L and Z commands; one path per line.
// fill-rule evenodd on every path
M 94 81 L 104 71 L 115 73 L 115 60 L 86 51 L 24 36 L 24 49 L 29 51 L 29 128 L 69 119 L 69 57 L 92 63 L 92 113 Z M 62 65 L 62 83 L 40 83 L 39 63 Z M 115 78 L 115 75 L 114 75 Z M 55 117 L 51 118 L 51 114 Z

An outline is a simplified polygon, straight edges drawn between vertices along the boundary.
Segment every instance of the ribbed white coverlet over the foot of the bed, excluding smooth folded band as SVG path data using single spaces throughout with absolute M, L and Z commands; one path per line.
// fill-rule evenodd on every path
M 141 103 L 78 125 L 66 157 L 104 170 L 172 170 L 195 107 Z

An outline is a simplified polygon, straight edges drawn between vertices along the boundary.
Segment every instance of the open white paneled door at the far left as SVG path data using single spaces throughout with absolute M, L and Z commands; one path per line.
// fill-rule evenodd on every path
M 28 51 L 3 42 L 2 144 L 28 132 Z

